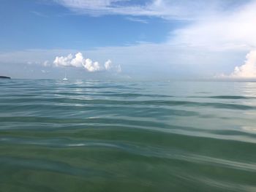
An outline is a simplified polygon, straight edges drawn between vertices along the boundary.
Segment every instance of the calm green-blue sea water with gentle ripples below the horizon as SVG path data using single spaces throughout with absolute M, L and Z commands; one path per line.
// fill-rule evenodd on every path
M 256 82 L 0 81 L 0 191 L 256 191 Z

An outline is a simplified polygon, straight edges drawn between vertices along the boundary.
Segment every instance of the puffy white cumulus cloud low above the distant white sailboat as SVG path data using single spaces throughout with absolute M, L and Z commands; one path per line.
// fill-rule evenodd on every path
M 92 61 L 90 58 L 84 58 L 82 53 L 75 54 L 75 57 L 72 54 L 67 55 L 66 57 L 56 57 L 53 61 L 54 66 L 71 66 L 79 67 L 86 69 L 87 72 L 121 72 L 120 65 L 113 65 L 112 61 L 108 60 L 105 62 L 105 65 L 102 66 L 97 61 Z

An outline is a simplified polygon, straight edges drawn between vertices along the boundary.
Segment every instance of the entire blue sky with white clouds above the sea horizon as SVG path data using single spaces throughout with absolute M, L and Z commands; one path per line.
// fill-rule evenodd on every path
M 0 75 L 256 78 L 255 0 L 1 0 Z

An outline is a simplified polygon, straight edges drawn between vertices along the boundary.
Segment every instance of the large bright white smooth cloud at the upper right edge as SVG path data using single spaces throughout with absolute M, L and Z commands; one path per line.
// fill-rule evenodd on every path
M 169 42 L 203 49 L 251 50 L 256 47 L 256 2 L 204 15 L 201 20 L 170 34 Z

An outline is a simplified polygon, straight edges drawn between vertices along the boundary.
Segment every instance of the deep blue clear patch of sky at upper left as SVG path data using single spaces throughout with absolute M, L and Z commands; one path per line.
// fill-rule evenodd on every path
M 129 16 L 81 15 L 50 1 L 4 0 L 3 4 L 1 50 L 79 50 L 137 42 L 159 43 L 165 42 L 172 28 L 182 24 L 159 18 L 143 17 L 135 22 L 136 18 Z M 157 30 L 152 30 L 152 26 Z

